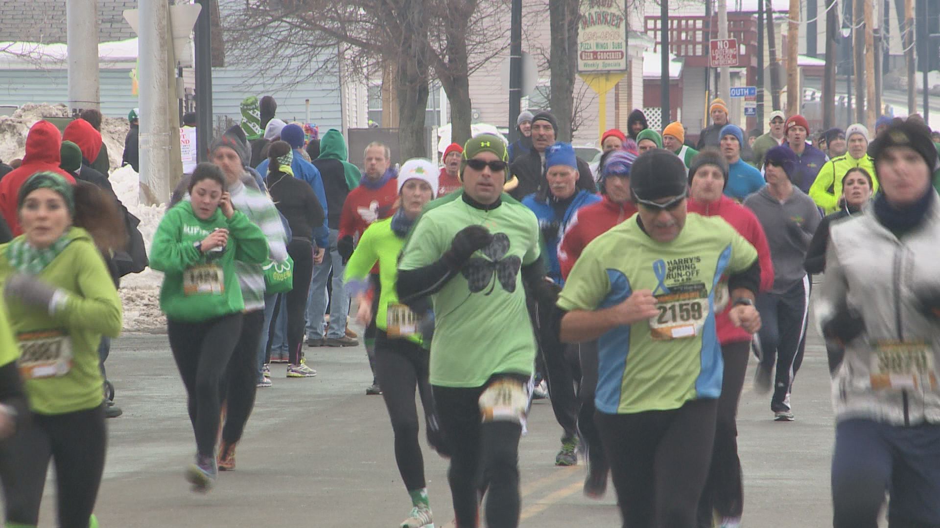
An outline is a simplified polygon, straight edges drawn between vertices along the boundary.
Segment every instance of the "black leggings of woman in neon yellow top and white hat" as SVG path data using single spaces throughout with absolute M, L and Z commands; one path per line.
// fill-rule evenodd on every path
M 405 489 L 427 486 L 424 457 L 418 444 L 415 386 L 424 407 L 428 443 L 440 451 L 440 431 L 434 412 L 434 397 L 428 382 L 429 352 L 408 339 L 389 337 L 379 329 L 375 338 L 375 375 L 382 387 L 385 408 L 395 432 L 395 461 Z

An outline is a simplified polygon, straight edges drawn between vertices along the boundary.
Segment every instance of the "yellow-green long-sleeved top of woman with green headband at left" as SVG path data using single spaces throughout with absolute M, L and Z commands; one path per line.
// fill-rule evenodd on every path
M 23 353 L 20 371 L 29 407 L 40 414 L 86 411 L 102 404 L 98 346 L 117 337 L 121 303 L 102 256 L 85 229 L 71 227 L 68 246 L 37 277 L 66 292 L 50 316 L 45 308 L 8 301 L 7 317 Z M 25 237 L 25 235 L 21 235 Z M 0 246 L 0 281 L 15 273 Z M 71 359 L 68 353 L 71 351 Z M 58 360 L 58 361 L 55 361 Z

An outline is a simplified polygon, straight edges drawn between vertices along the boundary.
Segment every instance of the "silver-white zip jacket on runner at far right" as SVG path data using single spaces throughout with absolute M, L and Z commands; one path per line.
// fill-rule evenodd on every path
M 920 292 L 940 291 L 937 240 L 940 199 L 935 193 L 925 221 L 900 240 L 881 224 L 874 208 L 832 226 L 816 313 L 824 324 L 833 308 L 849 306 L 864 321 L 863 333 L 844 343 L 845 359 L 832 384 L 837 420 L 940 424 L 940 392 L 929 384 L 923 391 L 878 388 L 884 377 L 872 376 L 873 365 L 880 364 L 879 342 L 893 355 L 892 343 L 919 341 L 922 352 L 931 356 L 934 373 L 940 365 L 940 323 L 925 316 L 917 299 Z

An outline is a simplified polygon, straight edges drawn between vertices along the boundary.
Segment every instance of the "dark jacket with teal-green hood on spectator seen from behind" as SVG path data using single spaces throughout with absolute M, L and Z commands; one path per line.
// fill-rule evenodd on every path
M 359 168 L 347 162 L 349 157 L 343 135 L 330 129 L 320 140 L 320 156 L 313 161 L 313 166 L 320 171 L 323 179 L 323 191 L 326 194 L 327 224 L 330 229 L 339 228 L 339 216 L 343 203 L 350 191 L 359 185 L 362 173 Z

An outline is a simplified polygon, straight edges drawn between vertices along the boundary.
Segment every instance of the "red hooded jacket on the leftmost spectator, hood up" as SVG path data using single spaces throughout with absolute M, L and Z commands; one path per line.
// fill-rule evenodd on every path
M 90 125 L 89 125 L 90 126 Z M 17 195 L 20 187 L 29 177 L 41 171 L 53 171 L 61 174 L 74 185 L 71 174 L 59 168 L 59 148 L 62 148 L 62 135 L 49 121 L 39 121 L 26 134 L 26 154 L 23 164 L 0 179 L 0 214 L 9 225 L 14 237 L 23 234 L 17 218 Z

